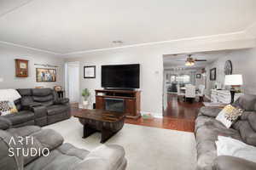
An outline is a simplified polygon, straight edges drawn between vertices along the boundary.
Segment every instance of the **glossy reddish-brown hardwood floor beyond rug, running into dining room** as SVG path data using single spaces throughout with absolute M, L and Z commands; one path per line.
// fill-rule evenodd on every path
M 143 118 L 140 117 L 137 120 L 125 119 L 125 123 L 148 126 L 148 127 L 159 127 L 185 132 L 194 132 L 195 118 L 198 110 L 201 108 L 201 102 L 184 102 L 177 101 L 176 94 L 168 94 L 168 106 L 166 111 L 163 113 L 162 118 Z M 81 111 L 76 105 L 72 107 L 72 113 Z

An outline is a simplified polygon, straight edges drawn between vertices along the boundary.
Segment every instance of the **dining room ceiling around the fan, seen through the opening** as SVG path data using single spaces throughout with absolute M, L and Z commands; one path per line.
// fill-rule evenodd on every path
M 224 57 L 230 52 L 231 50 L 223 50 L 192 54 L 192 58 L 194 59 L 207 59 L 207 61 L 195 61 L 195 65 L 193 66 L 186 66 L 185 61 L 177 61 L 180 59 L 187 59 L 188 54 L 167 54 L 164 55 L 164 69 L 195 70 L 205 68 L 207 65 L 211 64 L 216 59 Z

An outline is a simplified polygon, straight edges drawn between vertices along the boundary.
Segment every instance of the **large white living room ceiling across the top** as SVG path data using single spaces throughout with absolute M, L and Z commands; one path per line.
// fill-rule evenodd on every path
M 0 41 L 60 54 L 242 31 L 255 0 L 0 0 Z

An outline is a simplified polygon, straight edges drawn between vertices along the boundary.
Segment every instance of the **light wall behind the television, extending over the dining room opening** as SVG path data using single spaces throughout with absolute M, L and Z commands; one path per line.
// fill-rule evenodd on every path
M 101 65 L 141 64 L 141 108 L 142 112 L 162 115 L 163 98 L 163 54 L 193 53 L 201 51 L 254 47 L 255 40 L 229 37 L 197 38 L 166 42 L 148 46 L 96 50 L 67 55 L 67 61 L 80 62 L 80 88 L 91 92 L 101 88 Z M 84 65 L 96 65 L 96 79 L 84 79 Z M 81 90 L 81 89 L 80 89 Z M 95 100 L 92 94 L 92 100 Z

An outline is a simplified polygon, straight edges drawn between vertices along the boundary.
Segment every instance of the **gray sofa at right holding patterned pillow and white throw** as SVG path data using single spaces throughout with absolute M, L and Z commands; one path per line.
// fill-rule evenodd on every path
M 233 104 L 244 110 L 232 127 L 226 128 L 215 120 L 219 108 L 202 107 L 195 121 L 197 170 L 255 170 L 256 163 L 234 156 L 217 156 L 218 135 L 241 140 L 256 146 L 256 96 L 241 96 Z

